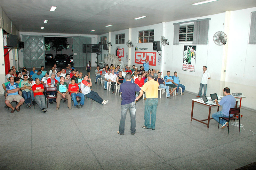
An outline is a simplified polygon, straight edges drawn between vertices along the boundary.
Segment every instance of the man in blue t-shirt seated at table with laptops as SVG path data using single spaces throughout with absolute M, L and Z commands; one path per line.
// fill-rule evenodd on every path
M 236 106 L 236 99 L 234 96 L 232 96 L 230 94 L 230 89 L 228 87 L 225 87 L 223 89 L 223 94 L 224 94 L 224 97 L 222 97 L 220 102 L 218 102 L 217 99 L 214 100 L 214 102 L 218 106 L 222 106 L 222 111 L 212 114 L 212 118 L 214 120 L 216 120 L 218 123 L 219 123 L 219 117 L 228 118 L 230 108 L 235 108 L 235 106 Z M 232 116 L 233 116 L 233 114 L 230 115 L 230 117 L 232 117 Z M 228 126 L 228 122 L 226 120 L 220 118 L 220 125 L 221 125 L 220 128 L 224 129 Z

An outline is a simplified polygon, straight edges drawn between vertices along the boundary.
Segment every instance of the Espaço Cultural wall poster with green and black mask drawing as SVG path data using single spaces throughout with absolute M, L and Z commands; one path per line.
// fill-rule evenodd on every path
M 196 46 L 184 45 L 182 70 L 195 72 Z

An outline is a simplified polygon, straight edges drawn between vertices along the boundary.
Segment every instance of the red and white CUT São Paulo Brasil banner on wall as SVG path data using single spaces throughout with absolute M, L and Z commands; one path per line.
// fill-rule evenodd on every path
M 135 51 L 135 63 L 142 65 L 146 59 L 150 66 L 156 66 L 156 52 Z

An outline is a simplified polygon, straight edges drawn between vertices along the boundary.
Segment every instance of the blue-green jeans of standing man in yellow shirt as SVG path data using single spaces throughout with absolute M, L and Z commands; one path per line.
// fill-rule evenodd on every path
M 169 91 L 169 90 L 168 90 Z M 144 111 L 144 125 L 147 128 L 155 128 L 156 123 L 156 107 L 158 104 L 157 98 L 147 98 L 145 102 L 145 111 Z M 151 124 L 150 124 L 150 112 L 151 112 Z

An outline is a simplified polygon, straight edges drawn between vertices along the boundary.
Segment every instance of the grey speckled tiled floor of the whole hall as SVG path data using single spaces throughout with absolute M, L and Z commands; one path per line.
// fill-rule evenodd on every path
M 79 68 L 79 70 L 85 70 Z M 83 72 L 85 73 L 85 72 Z M 92 79 L 95 75 L 92 73 Z M 130 133 L 126 117 L 124 135 L 118 135 L 121 97 L 102 86 L 92 89 L 106 105 L 85 100 L 82 109 L 67 103 L 49 104 L 48 112 L 38 106 L 10 113 L 0 97 L 0 169 L 236 169 L 256 160 L 256 112 L 241 109 L 244 129 L 230 125 L 218 129 L 190 121 L 195 94 L 159 99 L 156 130 L 143 129 L 144 103 L 136 103 L 136 133 Z M 220 108 L 221 109 L 221 108 Z M 217 110 L 213 107 L 212 113 Z M 208 108 L 195 104 L 194 117 L 206 119 Z

